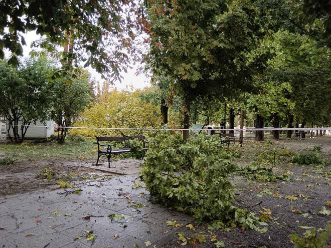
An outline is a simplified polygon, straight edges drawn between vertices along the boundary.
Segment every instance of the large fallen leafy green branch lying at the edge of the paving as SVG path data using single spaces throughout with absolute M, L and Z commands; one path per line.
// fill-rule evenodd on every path
M 159 135 L 146 153 L 141 175 L 150 194 L 198 219 L 228 221 L 236 208 L 229 175 L 235 165 L 220 152 L 218 137 Z

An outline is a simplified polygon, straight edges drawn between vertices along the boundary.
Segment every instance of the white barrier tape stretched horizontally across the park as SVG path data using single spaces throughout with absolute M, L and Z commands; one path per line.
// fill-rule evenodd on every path
M 21 125 L 17 125 L 21 126 Z M 29 125 L 26 125 L 27 127 Z M 29 126 L 29 127 L 41 127 L 41 128 L 49 128 L 47 126 Z M 99 130 L 145 130 L 145 131 L 324 131 L 330 130 L 331 127 L 309 127 L 309 128 L 224 128 L 224 129 L 214 129 L 214 128 L 125 128 L 125 127 L 62 127 L 62 126 L 54 126 L 54 128 L 67 128 L 67 129 L 99 129 Z

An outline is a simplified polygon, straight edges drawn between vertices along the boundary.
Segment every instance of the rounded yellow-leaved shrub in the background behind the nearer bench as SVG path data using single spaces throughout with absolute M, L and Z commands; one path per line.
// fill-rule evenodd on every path
M 139 96 L 147 90 L 106 91 L 81 113 L 75 126 L 79 127 L 125 127 L 154 128 L 161 123 L 159 108 Z M 90 137 L 120 136 L 116 130 L 72 129 L 72 134 Z M 125 135 L 136 136 L 125 131 Z

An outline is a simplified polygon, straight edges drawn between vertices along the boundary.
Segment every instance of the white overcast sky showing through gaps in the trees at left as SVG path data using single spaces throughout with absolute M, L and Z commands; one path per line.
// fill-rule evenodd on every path
M 25 41 L 27 43 L 26 46 L 23 46 L 24 51 L 24 57 L 29 57 L 29 53 L 31 51 L 31 43 L 33 41 L 36 41 L 40 38 L 39 35 L 36 34 L 35 31 L 28 32 L 25 35 Z M 137 66 L 133 66 L 132 69 L 128 69 L 127 73 L 122 72 L 121 75 L 123 77 L 122 82 L 114 82 L 114 87 L 117 89 L 130 89 L 131 86 L 134 89 L 142 89 L 146 86 L 150 86 L 149 84 L 149 78 L 147 78 L 145 75 L 135 75 Z M 90 72 L 92 78 L 95 78 L 97 81 L 102 82 L 101 75 L 97 73 L 94 69 L 91 67 L 85 68 L 88 69 Z

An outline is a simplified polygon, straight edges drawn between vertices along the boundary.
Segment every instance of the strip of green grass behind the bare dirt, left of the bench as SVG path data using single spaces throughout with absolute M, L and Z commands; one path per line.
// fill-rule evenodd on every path
M 67 140 L 59 145 L 56 141 L 47 143 L 0 144 L 0 157 L 14 157 L 19 161 L 42 158 L 95 158 L 97 148 L 94 140 L 72 142 Z

